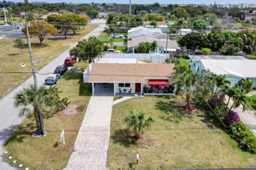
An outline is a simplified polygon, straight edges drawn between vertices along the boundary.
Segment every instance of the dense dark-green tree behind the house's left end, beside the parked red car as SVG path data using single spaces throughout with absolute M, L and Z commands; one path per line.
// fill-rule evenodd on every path
M 69 50 L 70 56 L 79 58 L 79 61 L 94 63 L 94 59 L 102 57 L 103 43 L 95 36 L 78 41 L 78 44 Z

